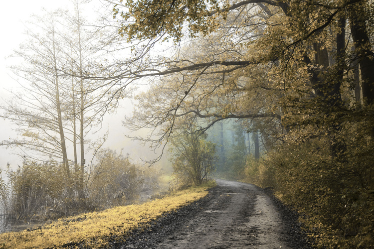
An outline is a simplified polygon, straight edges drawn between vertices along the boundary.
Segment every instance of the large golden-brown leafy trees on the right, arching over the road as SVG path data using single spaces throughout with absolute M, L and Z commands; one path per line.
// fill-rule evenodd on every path
M 141 139 L 163 146 L 188 121 L 204 131 L 224 119 L 255 120 L 266 148 L 274 148 L 259 174 L 270 172 L 266 182 L 278 184 L 293 205 L 299 197 L 313 200 L 299 207 L 316 217 L 312 227 L 326 229 L 320 245 L 371 245 L 373 215 L 365 211 L 374 203 L 371 3 L 118 2 L 121 34 L 149 44 L 134 46 L 141 56 L 118 75 L 152 77 L 132 127 L 154 128 Z M 169 39 L 178 48 L 174 56 L 145 59 Z M 357 101 L 354 92 L 361 91 Z M 344 231 L 352 236 L 343 238 Z

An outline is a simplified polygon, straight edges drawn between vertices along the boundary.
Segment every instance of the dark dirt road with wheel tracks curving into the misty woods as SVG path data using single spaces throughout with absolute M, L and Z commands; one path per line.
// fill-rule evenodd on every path
M 254 185 L 217 180 L 204 200 L 155 222 L 117 248 L 310 248 L 295 214 Z

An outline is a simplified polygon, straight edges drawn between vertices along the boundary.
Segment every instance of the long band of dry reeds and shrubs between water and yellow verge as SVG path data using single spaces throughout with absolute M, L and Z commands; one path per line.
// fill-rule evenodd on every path
M 79 197 L 75 174 L 66 177 L 57 162 L 24 161 L 0 178 L 2 213 L 6 221 L 45 222 L 83 212 L 137 202 L 142 191 L 155 194 L 160 172 L 131 163 L 113 150 L 101 150 L 98 164 L 84 175 L 84 198 Z M 79 172 L 77 172 L 77 177 Z

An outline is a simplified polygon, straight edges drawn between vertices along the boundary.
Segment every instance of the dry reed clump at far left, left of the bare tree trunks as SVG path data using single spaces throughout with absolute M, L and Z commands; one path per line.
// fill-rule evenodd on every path
M 11 219 L 47 219 L 71 214 L 72 182 L 56 163 L 24 161 L 8 172 L 5 207 Z M 67 205 L 69 204 L 69 205 Z

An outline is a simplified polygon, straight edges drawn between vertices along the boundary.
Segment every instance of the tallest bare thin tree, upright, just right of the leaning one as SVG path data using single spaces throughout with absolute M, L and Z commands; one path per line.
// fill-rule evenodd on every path
M 74 151 L 74 166 L 78 174 L 77 187 L 81 198 L 84 197 L 84 165 L 85 165 L 85 134 L 91 131 L 93 126 L 98 126 L 106 113 L 105 100 L 102 94 L 95 89 L 103 84 L 103 81 L 93 81 L 85 79 L 83 76 L 90 74 L 96 62 L 96 50 L 93 49 L 97 43 L 98 31 L 88 29 L 87 23 L 80 12 L 80 5 L 75 2 L 75 13 L 66 13 L 64 19 L 67 21 L 66 28 L 70 31 L 63 36 L 64 41 L 69 44 L 65 47 L 65 56 L 70 62 L 69 72 L 61 73 L 67 78 L 71 78 L 71 89 L 65 86 L 69 93 L 69 101 L 66 103 L 66 115 L 72 123 L 72 142 Z M 67 50 L 67 51 L 66 51 Z M 67 65 L 68 66 L 68 65 Z M 105 88 L 103 91 L 105 92 Z M 77 121 L 79 121 L 79 131 L 77 132 Z M 95 131 L 94 131 L 95 132 Z M 93 132 L 93 133 L 94 133 Z M 105 137 L 104 137 L 105 140 Z M 77 142 L 80 144 L 80 163 L 77 158 Z

